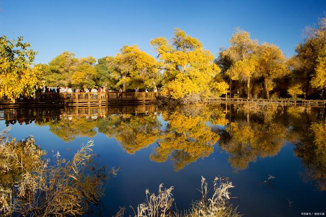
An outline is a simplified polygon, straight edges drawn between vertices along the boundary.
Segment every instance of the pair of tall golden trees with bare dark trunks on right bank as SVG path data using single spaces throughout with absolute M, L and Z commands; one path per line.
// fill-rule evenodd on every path
M 246 31 L 236 29 L 230 46 L 220 52 L 216 62 L 232 80 L 247 83 L 247 98 L 251 97 L 251 81 L 262 78 L 265 97 L 273 90 L 273 80 L 286 74 L 287 63 L 282 51 L 274 44 L 252 40 Z

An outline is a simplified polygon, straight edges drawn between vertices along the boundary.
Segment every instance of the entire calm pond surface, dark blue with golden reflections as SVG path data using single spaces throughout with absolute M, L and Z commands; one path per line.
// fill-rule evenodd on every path
M 69 159 L 94 140 L 100 164 L 120 171 L 93 215 L 112 216 L 122 206 L 131 213 L 129 205 L 159 183 L 173 185 L 179 210 L 188 208 L 200 198 L 201 176 L 229 177 L 231 203 L 244 216 L 326 213 L 326 129 L 316 124 L 325 121 L 323 108 L 39 108 L 0 111 L 0 119 L 17 140 L 34 135 L 49 158 L 59 151 Z M 275 178 L 263 183 L 268 175 Z

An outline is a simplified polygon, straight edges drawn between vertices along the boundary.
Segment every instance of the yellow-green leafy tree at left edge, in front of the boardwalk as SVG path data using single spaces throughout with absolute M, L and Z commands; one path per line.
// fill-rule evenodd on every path
M 13 101 L 19 96 L 33 96 L 42 85 L 39 67 L 33 67 L 36 52 L 22 40 L 0 37 L 0 97 L 7 95 Z

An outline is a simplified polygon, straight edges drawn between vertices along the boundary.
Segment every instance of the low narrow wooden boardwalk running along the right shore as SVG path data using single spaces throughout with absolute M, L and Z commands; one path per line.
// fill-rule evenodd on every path
M 306 106 L 326 106 L 326 100 L 315 99 L 245 99 L 245 98 L 208 98 L 208 103 L 214 102 L 232 102 L 232 103 L 247 103 L 259 102 L 265 104 L 280 104 L 280 105 L 306 105 Z

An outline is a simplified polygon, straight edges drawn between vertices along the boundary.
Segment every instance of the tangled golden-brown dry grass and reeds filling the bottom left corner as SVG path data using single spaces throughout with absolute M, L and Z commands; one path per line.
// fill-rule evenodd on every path
M 104 180 L 115 173 L 114 169 L 110 173 L 95 169 L 92 141 L 70 161 L 57 153 L 56 165 L 49 166 L 49 160 L 42 159 L 45 151 L 32 137 L 15 142 L 4 134 L 0 137 L 0 175 L 14 177 L 0 184 L 0 213 L 5 215 L 81 215 L 91 202 L 98 202 Z

